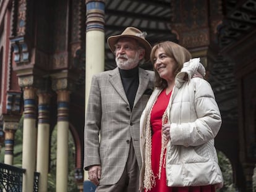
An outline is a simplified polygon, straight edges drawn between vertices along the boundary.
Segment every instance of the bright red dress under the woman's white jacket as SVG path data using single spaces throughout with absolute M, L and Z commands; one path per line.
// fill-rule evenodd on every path
M 185 186 L 185 187 L 169 187 L 166 183 L 166 170 L 163 163 L 161 170 L 161 178 L 158 179 L 159 162 L 161 154 L 161 128 L 162 117 L 166 107 L 168 106 L 171 92 L 166 94 L 166 90 L 163 90 L 158 96 L 155 105 L 151 111 L 151 128 L 152 128 L 152 146 L 151 146 L 151 166 L 155 175 L 156 185 L 150 192 L 215 192 L 213 185 L 207 186 Z M 165 156 L 164 156 L 165 159 Z M 165 161 L 163 161 L 165 162 Z

